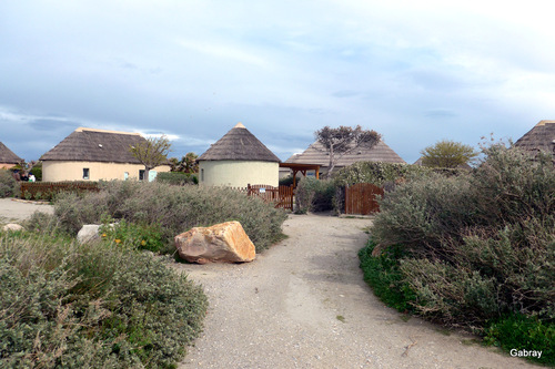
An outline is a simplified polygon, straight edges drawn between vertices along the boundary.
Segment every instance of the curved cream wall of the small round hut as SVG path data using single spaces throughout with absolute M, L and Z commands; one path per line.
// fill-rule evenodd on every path
M 272 162 L 201 161 L 199 184 L 246 187 L 248 184 L 279 185 L 280 164 Z

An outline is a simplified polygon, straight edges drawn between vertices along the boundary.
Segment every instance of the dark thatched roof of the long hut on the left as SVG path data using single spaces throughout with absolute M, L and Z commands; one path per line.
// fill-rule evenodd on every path
M 40 160 L 140 164 L 129 148 L 142 141 L 139 133 L 79 127 Z

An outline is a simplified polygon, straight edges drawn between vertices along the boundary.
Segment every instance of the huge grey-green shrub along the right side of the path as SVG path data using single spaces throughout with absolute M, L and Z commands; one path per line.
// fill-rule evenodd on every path
M 432 174 L 397 186 L 381 202 L 373 239 L 380 249 L 405 252 L 398 256 L 401 280 L 424 317 L 482 334 L 488 321 L 515 314 L 552 327 L 552 160 L 538 155 L 532 162 L 500 145 L 485 154 L 468 174 Z

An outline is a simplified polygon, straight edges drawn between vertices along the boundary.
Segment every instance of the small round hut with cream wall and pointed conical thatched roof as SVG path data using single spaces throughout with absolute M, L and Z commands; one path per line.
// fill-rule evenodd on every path
M 238 123 L 198 158 L 201 185 L 279 185 L 280 158 Z

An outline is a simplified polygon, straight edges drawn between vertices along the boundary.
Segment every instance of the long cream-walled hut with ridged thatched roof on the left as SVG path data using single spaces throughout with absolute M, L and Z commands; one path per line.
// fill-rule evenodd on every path
M 144 165 L 130 146 L 144 142 L 139 133 L 79 127 L 42 155 L 42 181 L 142 180 Z M 149 181 L 169 165 L 150 171 Z

